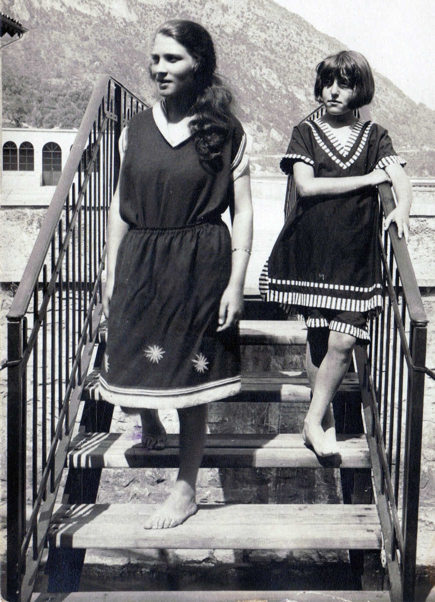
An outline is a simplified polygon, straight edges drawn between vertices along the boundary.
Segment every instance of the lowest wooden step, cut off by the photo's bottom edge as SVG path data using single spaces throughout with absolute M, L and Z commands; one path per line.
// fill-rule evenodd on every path
M 31 602 L 390 602 L 380 591 L 147 591 L 33 594 Z

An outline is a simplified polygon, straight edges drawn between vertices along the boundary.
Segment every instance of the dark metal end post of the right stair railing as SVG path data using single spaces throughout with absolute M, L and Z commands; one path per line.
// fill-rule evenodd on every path
M 426 337 L 426 326 L 411 323 L 410 350 L 415 366 L 425 365 Z M 424 378 L 423 371 L 410 370 L 403 477 L 403 600 L 414 600 Z

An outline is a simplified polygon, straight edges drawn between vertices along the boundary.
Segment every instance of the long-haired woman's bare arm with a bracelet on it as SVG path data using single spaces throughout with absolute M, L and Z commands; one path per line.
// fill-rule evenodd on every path
M 252 203 L 249 168 L 234 182 L 231 234 L 231 276 L 221 297 L 218 331 L 232 326 L 242 314 L 243 287 L 252 245 Z

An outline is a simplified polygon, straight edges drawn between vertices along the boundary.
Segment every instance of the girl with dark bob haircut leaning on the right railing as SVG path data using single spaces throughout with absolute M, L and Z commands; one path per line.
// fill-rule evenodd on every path
M 304 120 L 280 167 L 294 175 L 298 202 L 260 278 L 265 300 L 302 314 L 312 391 L 303 439 L 318 456 L 339 453 L 332 400 L 355 344 L 369 342 L 369 318 L 383 301 L 377 185 L 392 184 L 398 236 L 409 237 L 412 189 L 383 127 L 355 109 L 368 104 L 374 81 L 366 59 L 342 51 L 316 67 L 314 94 L 324 114 Z

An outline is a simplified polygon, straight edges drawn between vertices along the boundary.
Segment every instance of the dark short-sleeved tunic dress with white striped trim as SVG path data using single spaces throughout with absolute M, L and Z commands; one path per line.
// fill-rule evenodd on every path
M 361 176 L 392 163 L 405 164 L 386 129 L 363 120 L 345 146 L 321 119 L 301 122 L 293 129 L 280 167 L 290 175 L 297 161 L 312 166 L 316 178 Z M 380 312 L 379 220 L 375 187 L 298 199 L 262 272 L 264 299 L 304 316 L 309 308 Z

